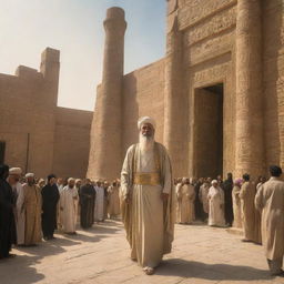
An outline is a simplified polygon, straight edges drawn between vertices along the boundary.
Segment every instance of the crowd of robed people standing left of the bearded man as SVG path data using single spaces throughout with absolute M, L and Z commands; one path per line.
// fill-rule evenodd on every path
M 13 245 L 33 246 L 53 240 L 54 231 L 75 234 L 94 222 L 120 215 L 120 181 L 69 178 L 37 179 L 20 168 L 0 165 L 0 258 L 14 256 Z

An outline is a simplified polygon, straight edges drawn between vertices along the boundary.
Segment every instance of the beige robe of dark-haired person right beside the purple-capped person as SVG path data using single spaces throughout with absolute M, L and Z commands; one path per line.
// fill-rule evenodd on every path
M 240 192 L 242 204 L 242 221 L 244 237 L 248 241 L 255 241 L 255 210 L 254 210 L 255 189 L 251 182 L 243 183 Z

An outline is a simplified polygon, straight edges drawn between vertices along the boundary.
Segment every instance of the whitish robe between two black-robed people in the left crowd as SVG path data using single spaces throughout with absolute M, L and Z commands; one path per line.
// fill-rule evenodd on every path
M 65 233 L 74 233 L 78 216 L 78 190 L 65 186 L 60 196 L 62 229 Z

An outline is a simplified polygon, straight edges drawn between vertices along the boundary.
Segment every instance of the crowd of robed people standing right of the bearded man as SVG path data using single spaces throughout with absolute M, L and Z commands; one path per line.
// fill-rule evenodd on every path
M 174 181 L 178 200 L 176 221 L 192 224 L 206 222 L 210 226 L 242 229 L 243 242 L 263 244 L 272 275 L 284 275 L 284 182 L 282 169 L 270 168 L 271 178 L 250 174 L 233 181 L 232 173 L 223 182 L 221 175 Z

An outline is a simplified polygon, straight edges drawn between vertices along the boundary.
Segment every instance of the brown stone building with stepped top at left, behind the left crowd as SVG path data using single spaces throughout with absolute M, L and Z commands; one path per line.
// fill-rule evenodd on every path
M 20 65 L 0 74 L 0 163 L 45 176 L 85 176 L 92 112 L 57 106 L 58 50 L 45 49 L 40 71 Z

